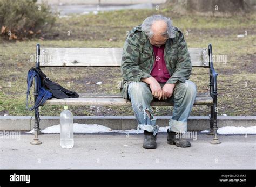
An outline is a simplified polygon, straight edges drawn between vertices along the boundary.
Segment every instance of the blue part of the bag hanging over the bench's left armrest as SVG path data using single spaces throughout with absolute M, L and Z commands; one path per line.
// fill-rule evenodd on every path
M 31 96 L 30 96 L 30 88 L 33 84 L 33 78 L 37 77 L 37 90 L 38 90 L 38 96 L 35 102 L 35 105 L 32 106 L 31 108 L 28 108 L 28 99 L 30 97 L 30 103 L 31 102 Z M 28 88 L 26 90 L 26 109 L 29 109 L 30 111 L 33 109 L 38 108 L 39 106 L 43 106 L 43 104 L 46 102 L 47 99 L 52 98 L 52 93 L 48 90 L 46 90 L 42 85 L 41 85 L 41 77 L 39 76 L 39 74 L 37 73 L 37 71 L 34 68 L 31 68 L 29 70 L 28 73 L 28 77 L 26 79 L 26 82 L 28 83 Z M 32 104 L 33 105 L 33 104 Z M 40 120 L 39 118 L 39 113 L 37 110 L 37 118 Z

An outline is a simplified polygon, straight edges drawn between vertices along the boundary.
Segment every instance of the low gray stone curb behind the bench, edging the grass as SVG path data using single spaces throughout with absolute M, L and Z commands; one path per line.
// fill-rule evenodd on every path
M 157 116 L 157 125 L 168 126 L 171 116 Z M 32 116 L 0 116 L 0 131 L 30 131 L 33 129 Z M 99 124 L 113 130 L 137 129 L 134 116 L 75 116 L 74 123 Z M 58 116 L 41 116 L 40 128 L 59 124 Z M 218 116 L 218 127 L 224 126 L 255 126 L 256 116 Z M 210 126 L 208 116 L 191 116 L 188 118 L 188 131 L 208 130 Z

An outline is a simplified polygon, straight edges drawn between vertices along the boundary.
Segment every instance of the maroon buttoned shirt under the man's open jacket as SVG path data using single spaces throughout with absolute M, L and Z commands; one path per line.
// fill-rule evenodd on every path
M 154 65 L 150 75 L 160 83 L 166 83 L 171 77 L 165 64 L 164 60 L 164 45 L 160 47 L 153 46 L 154 51 Z

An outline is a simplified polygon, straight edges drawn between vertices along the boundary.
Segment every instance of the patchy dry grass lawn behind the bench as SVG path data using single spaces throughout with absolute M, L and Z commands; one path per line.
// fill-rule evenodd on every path
M 227 62 L 215 62 L 218 71 L 218 114 L 255 116 L 255 15 L 247 17 L 178 16 L 169 11 L 125 10 L 98 15 L 73 15 L 57 20 L 45 40 L 0 43 L 0 115 L 33 115 L 25 109 L 26 75 L 34 66 L 35 46 L 44 47 L 122 47 L 126 31 L 142 23 L 152 13 L 164 13 L 186 35 L 189 47 L 207 47 L 211 42 L 214 55 L 226 55 Z M 71 31 L 68 36 L 67 31 Z M 237 38 L 238 34 L 247 36 Z M 53 35 L 58 35 L 53 37 Z M 109 38 L 114 41 L 109 42 Z M 118 93 L 119 68 L 44 68 L 53 81 L 78 93 Z M 103 74 L 104 72 L 104 74 Z M 208 90 L 208 70 L 193 69 L 191 80 L 199 92 Z M 100 76 L 98 76 L 100 74 Z M 102 85 L 95 83 L 102 81 Z M 68 87 L 68 82 L 70 87 Z M 114 85 L 114 86 L 113 86 Z M 58 116 L 63 106 L 41 107 L 41 115 Z M 75 115 L 132 115 L 131 107 L 70 107 Z M 160 107 L 157 115 L 172 113 L 172 107 Z M 207 116 L 207 106 L 193 107 L 191 116 Z

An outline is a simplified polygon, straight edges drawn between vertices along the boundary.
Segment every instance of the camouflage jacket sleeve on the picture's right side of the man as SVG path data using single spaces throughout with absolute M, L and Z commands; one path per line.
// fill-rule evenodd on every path
M 179 82 L 185 82 L 190 78 L 192 64 L 190 59 L 190 53 L 188 52 L 187 44 L 184 39 L 184 36 L 181 32 L 177 31 L 178 40 L 177 40 L 177 50 L 178 57 L 175 70 L 166 83 L 175 84 Z

